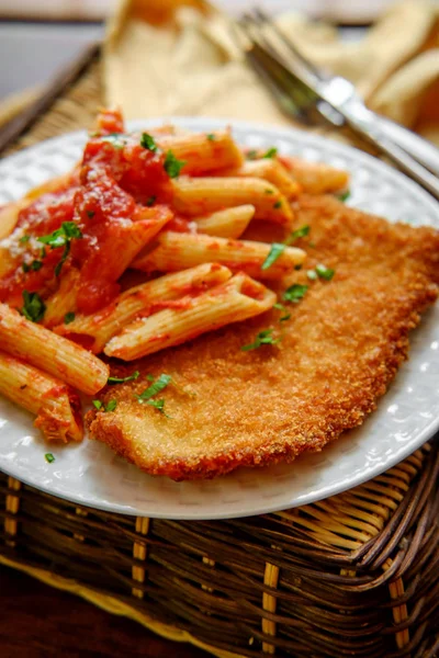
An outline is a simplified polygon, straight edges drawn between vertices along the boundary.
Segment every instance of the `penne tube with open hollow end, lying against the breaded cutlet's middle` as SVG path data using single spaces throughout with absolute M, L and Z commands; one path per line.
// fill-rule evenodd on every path
M 275 294 L 246 274 L 192 299 L 184 309 L 167 308 L 128 325 L 106 344 L 108 356 L 133 361 L 181 344 L 206 331 L 259 315 L 273 306 Z

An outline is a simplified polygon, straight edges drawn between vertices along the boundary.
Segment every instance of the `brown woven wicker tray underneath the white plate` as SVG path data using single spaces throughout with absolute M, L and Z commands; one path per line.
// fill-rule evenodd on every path
M 99 48 L 0 131 L 0 150 L 90 126 Z M 439 445 L 295 510 L 215 522 L 78 507 L 0 474 L 0 563 L 215 656 L 439 655 Z

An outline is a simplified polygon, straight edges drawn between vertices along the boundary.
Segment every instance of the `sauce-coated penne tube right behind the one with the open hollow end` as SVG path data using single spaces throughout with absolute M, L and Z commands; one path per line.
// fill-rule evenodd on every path
M 61 336 L 102 352 L 105 343 L 139 316 L 147 316 L 167 303 L 199 295 L 230 279 L 232 272 L 216 263 L 204 263 L 176 274 L 167 274 L 132 287 L 93 315 L 76 315 L 68 325 L 55 327 Z

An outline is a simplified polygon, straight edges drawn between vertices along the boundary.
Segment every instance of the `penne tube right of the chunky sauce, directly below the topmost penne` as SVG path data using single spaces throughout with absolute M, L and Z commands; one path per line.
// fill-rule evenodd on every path
M 291 226 L 293 211 L 285 196 L 259 178 L 187 178 L 173 181 L 173 206 L 178 213 L 196 217 L 215 211 L 251 204 L 255 219 Z

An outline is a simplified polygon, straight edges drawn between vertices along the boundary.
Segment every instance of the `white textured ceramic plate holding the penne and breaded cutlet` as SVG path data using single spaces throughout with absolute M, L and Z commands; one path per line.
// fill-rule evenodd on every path
M 159 122 L 132 122 L 131 128 Z M 199 131 L 224 121 L 177 118 Z M 232 123 L 232 122 L 230 122 Z M 323 160 L 351 172 L 349 204 L 391 220 L 439 227 L 439 206 L 401 173 L 352 148 L 297 131 L 234 123 L 237 140 L 250 148 L 277 146 L 282 154 Z M 67 171 L 78 160 L 83 133 L 50 139 L 0 163 L 0 204 Z M 173 483 L 150 477 L 105 445 L 48 446 L 32 417 L 0 399 L 0 469 L 54 496 L 126 514 L 168 519 L 225 519 L 288 509 L 333 496 L 390 468 L 439 428 L 439 306 L 412 334 L 409 361 L 379 409 L 362 428 L 346 433 L 320 454 L 291 465 L 241 468 L 211 481 Z M 50 451 L 56 461 L 47 464 Z

